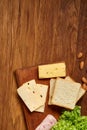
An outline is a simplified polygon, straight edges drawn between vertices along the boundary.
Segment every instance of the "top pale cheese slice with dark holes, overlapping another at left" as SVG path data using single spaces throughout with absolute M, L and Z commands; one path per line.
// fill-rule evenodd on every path
M 24 83 L 21 87 L 17 89 L 18 95 L 21 97 L 25 105 L 32 112 L 35 111 L 40 106 L 44 105 L 44 100 L 41 97 L 39 88 L 36 87 L 36 84 L 33 81 Z

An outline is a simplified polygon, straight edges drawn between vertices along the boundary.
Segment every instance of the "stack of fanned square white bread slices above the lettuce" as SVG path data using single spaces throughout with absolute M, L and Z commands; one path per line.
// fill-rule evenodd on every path
M 48 104 L 74 109 L 85 92 L 81 84 L 73 81 L 69 76 L 65 79 L 51 79 Z

